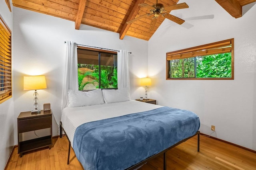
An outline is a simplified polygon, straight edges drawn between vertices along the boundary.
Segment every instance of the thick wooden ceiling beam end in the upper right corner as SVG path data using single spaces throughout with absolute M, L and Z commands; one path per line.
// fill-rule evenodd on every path
M 242 6 L 237 0 L 215 0 L 224 10 L 226 10 L 232 17 L 242 17 Z

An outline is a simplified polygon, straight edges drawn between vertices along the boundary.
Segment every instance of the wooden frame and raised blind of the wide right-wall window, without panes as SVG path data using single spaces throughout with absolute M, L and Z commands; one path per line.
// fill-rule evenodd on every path
M 170 60 L 228 52 L 231 52 L 231 78 L 168 78 Z M 234 38 L 166 53 L 166 80 L 234 80 Z

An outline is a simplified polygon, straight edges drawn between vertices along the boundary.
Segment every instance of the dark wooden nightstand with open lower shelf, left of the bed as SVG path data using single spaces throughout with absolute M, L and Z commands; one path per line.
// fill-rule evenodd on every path
M 31 111 L 21 112 L 18 120 L 18 154 L 22 157 L 24 152 L 52 146 L 52 110 L 41 113 Z M 22 133 L 49 128 L 49 135 L 22 141 Z

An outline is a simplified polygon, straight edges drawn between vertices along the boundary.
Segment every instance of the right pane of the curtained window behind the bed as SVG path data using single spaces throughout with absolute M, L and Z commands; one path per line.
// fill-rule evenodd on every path
M 117 88 L 117 55 L 100 53 L 100 88 Z

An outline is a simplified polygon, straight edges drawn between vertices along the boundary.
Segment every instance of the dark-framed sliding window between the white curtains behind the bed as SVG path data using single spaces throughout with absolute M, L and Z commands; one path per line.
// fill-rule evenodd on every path
M 79 90 L 117 88 L 117 52 L 78 46 Z

